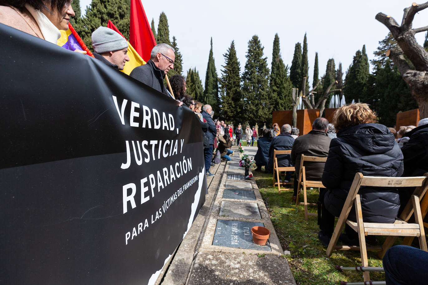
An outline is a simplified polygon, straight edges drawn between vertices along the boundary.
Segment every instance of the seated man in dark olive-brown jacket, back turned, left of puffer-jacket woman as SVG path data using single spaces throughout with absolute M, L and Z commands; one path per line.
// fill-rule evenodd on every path
M 294 173 L 294 194 L 293 201 L 297 196 L 297 179 L 299 178 L 300 158 L 305 156 L 327 157 L 330 149 L 331 138 L 327 135 L 328 120 L 326 118 L 316 118 L 312 123 L 312 131 L 306 135 L 301 135 L 296 138 L 291 149 L 291 163 L 294 165 L 296 172 Z M 324 170 L 324 163 L 307 162 L 305 163 L 306 179 L 321 180 L 321 175 Z

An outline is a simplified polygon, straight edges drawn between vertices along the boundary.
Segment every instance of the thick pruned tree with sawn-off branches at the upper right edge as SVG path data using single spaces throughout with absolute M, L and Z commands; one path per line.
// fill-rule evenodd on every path
M 376 20 L 384 24 L 398 43 L 397 48 L 388 50 L 386 56 L 392 59 L 401 73 L 404 81 L 409 85 L 410 92 L 419 105 L 420 118 L 428 117 L 428 53 L 415 39 L 418 32 L 428 31 L 428 26 L 412 29 L 415 14 L 428 7 L 428 2 L 423 4 L 412 3 L 412 6 L 404 9 L 401 25 L 391 16 L 383 13 L 376 15 Z M 412 62 L 410 67 L 404 56 Z

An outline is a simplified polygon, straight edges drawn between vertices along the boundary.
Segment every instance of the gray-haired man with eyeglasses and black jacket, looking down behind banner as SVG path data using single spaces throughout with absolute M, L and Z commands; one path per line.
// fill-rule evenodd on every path
M 150 53 L 150 60 L 145 65 L 134 68 L 129 75 L 167 95 L 163 79 L 169 70 L 174 69 L 174 52 L 168 44 L 155 45 Z

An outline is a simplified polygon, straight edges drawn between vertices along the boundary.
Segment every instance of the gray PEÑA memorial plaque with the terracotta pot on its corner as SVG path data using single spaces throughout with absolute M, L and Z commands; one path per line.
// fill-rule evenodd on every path
M 270 249 L 269 240 L 266 245 L 257 245 L 253 243 L 253 235 L 251 235 L 251 228 L 253 226 L 265 225 L 263 223 L 242 222 L 237 220 L 217 220 L 213 245 L 272 251 Z

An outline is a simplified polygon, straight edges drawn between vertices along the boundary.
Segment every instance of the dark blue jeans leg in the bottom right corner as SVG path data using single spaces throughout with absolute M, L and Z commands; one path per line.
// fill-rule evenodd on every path
M 426 284 L 428 253 L 415 247 L 397 245 L 383 256 L 386 285 Z

